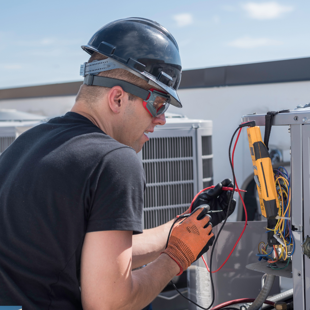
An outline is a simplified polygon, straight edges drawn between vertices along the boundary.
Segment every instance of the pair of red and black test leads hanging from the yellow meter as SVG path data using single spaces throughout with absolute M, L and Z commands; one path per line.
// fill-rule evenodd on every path
M 231 138 L 231 141 L 230 141 L 230 144 L 229 144 L 228 155 L 229 155 L 229 162 L 230 162 L 230 166 L 231 166 L 231 170 L 232 170 L 232 177 L 233 177 L 233 180 L 234 180 L 234 184 L 233 184 L 233 188 L 232 188 L 232 194 L 231 194 L 231 196 L 230 196 L 230 200 L 229 200 L 229 203 L 228 203 L 227 214 L 226 214 L 226 217 L 225 217 L 225 219 L 224 219 L 224 223 L 222 224 L 221 228 L 219 229 L 219 232 L 218 232 L 218 234 L 217 234 L 217 236 L 216 236 L 216 238 L 215 238 L 215 241 L 214 241 L 214 243 L 213 243 L 213 246 L 212 246 L 211 255 L 210 255 L 210 268 L 208 267 L 208 265 L 207 265 L 206 260 L 204 259 L 204 257 L 201 256 L 201 258 L 203 259 L 203 261 L 204 261 L 204 263 L 205 263 L 205 265 L 206 265 L 206 268 L 207 268 L 208 272 L 210 272 L 210 281 L 211 281 L 211 286 L 212 286 L 212 302 L 211 302 L 210 306 L 209 306 L 208 308 L 204 308 L 204 307 L 198 305 L 198 304 L 195 303 L 193 300 L 191 300 L 191 299 L 189 299 L 188 297 L 184 296 L 184 295 L 178 290 L 178 288 L 175 286 L 175 284 L 174 284 L 172 281 L 170 281 L 171 284 L 172 284 L 172 286 L 175 288 L 175 290 L 176 290 L 181 296 L 183 296 L 185 299 L 187 299 L 188 301 L 190 301 L 191 303 L 193 303 L 194 305 L 196 305 L 197 307 L 199 307 L 199 308 L 201 308 L 201 309 L 203 309 L 203 310 L 208 310 L 208 309 L 210 309 L 210 308 L 212 307 L 212 305 L 213 305 L 213 303 L 214 303 L 214 299 L 215 299 L 214 284 L 213 284 L 213 279 L 212 279 L 212 273 L 218 272 L 218 271 L 224 266 L 224 264 L 228 261 L 229 257 L 232 255 L 232 252 L 233 252 L 234 249 L 236 248 L 236 246 L 237 246 L 239 240 L 241 239 L 241 237 L 242 237 L 242 235 L 243 235 L 243 232 L 245 231 L 246 225 L 247 225 L 247 212 L 246 212 L 246 206 L 245 206 L 245 204 L 244 204 L 243 198 L 242 198 L 241 193 L 240 193 L 241 190 L 239 190 L 239 188 L 238 188 L 237 181 L 236 181 L 236 177 L 235 177 L 235 171 L 234 171 L 234 167 L 233 167 L 233 157 L 234 157 L 235 148 L 236 148 L 236 145 L 237 145 L 237 142 L 238 142 L 240 133 L 241 133 L 241 129 L 242 129 L 242 127 L 246 127 L 246 126 L 251 126 L 251 127 L 255 126 L 255 121 L 251 121 L 251 122 L 246 122 L 246 123 L 240 124 L 240 125 L 238 126 L 238 128 L 235 130 L 235 132 L 233 133 L 232 138 Z M 239 132 L 238 132 L 238 135 L 237 135 L 237 138 L 236 138 L 236 141 L 235 141 L 233 150 L 232 150 L 232 156 L 231 156 L 231 153 L 230 153 L 230 152 L 231 152 L 232 142 L 233 142 L 233 139 L 234 139 L 234 137 L 235 137 L 237 131 L 239 131 Z M 243 228 L 243 230 L 242 230 L 242 232 L 241 232 L 241 234 L 240 234 L 240 237 L 238 238 L 237 242 L 235 243 L 234 247 L 232 248 L 231 252 L 229 253 L 227 259 L 224 261 L 224 263 L 223 263 L 217 270 L 212 271 L 212 258 L 213 258 L 213 253 L 214 253 L 214 249 L 215 249 L 215 244 L 216 244 L 216 242 L 217 242 L 217 240 L 218 240 L 218 238 L 219 238 L 219 234 L 221 233 L 221 231 L 222 231 L 222 229 L 224 228 L 224 225 L 226 224 L 226 221 L 227 221 L 227 219 L 228 219 L 229 209 L 230 209 L 231 201 L 232 201 L 233 194 L 234 194 L 234 192 L 235 192 L 236 187 L 237 187 L 237 192 L 239 193 L 240 199 L 241 199 L 242 204 L 243 204 L 244 212 L 245 212 L 245 215 L 246 215 L 246 221 L 245 221 L 245 224 L 244 224 L 244 228 Z M 193 199 L 193 201 L 192 201 L 192 203 L 191 203 L 190 211 L 192 211 L 193 203 L 194 203 L 194 201 L 196 200 L 196 198 L 198 197 L 198 195 L 199 195 L 200 193 L 202 193 L 202 192 L 204 192 L 204 191 L 210 189 L 210 188 L 212 188 L 212 186 L 211 186 L 211 187 L 204 188 L 204 189 L 201 190 L 199 193 L 197 193 L 197 195 L 194 197 L 194 199 Z M 167 245 L 168 245 L 168 241 L 169 241 L 169 237 L 170 237 L 171 230 L 172 230 L 174 224 L 175 224 L 178 220 L 179 220 L 179 218 L 177 218 L 177 219 L 174 221 L 174 223 L 172 224 L 172 226 L 171 226 L 171 228 L 170 228 L 170 232 L 169 232 L 169 234 L 168 234 L 168 239 L 167 239 Z

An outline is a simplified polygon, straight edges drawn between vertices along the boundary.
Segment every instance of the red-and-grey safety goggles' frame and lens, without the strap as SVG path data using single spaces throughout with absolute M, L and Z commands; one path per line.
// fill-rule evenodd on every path
M 167 111 L 171 101 L 170 95 L 154 88 L 149 92 L 147 99 L 143 101 L 143 106 L 153 117 L 158 117 Z

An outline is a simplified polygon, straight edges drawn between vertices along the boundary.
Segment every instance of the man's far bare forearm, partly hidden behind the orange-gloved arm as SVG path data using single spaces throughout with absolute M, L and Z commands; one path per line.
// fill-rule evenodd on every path
M 168 233 L 174 220 L 132 236 L 132 269 L 153 262 L 165 250 Z

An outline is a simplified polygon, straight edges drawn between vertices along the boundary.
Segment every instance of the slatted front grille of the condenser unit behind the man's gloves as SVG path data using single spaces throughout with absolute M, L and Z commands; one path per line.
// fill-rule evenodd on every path
M 183 213 L 193 199 L 193 137 L 150 138 L 142 161 L 144 225 L 153 228 Z

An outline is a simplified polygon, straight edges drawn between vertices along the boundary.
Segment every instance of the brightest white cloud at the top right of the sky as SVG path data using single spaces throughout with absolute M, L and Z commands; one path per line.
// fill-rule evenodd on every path
M 283 13 L 294 10 L 292 6 L 281 5 L 277 2 L 248 2 L 243 5 L 243 9 L 248 13 L 249 17 L 264 20 L 280 17 Z

